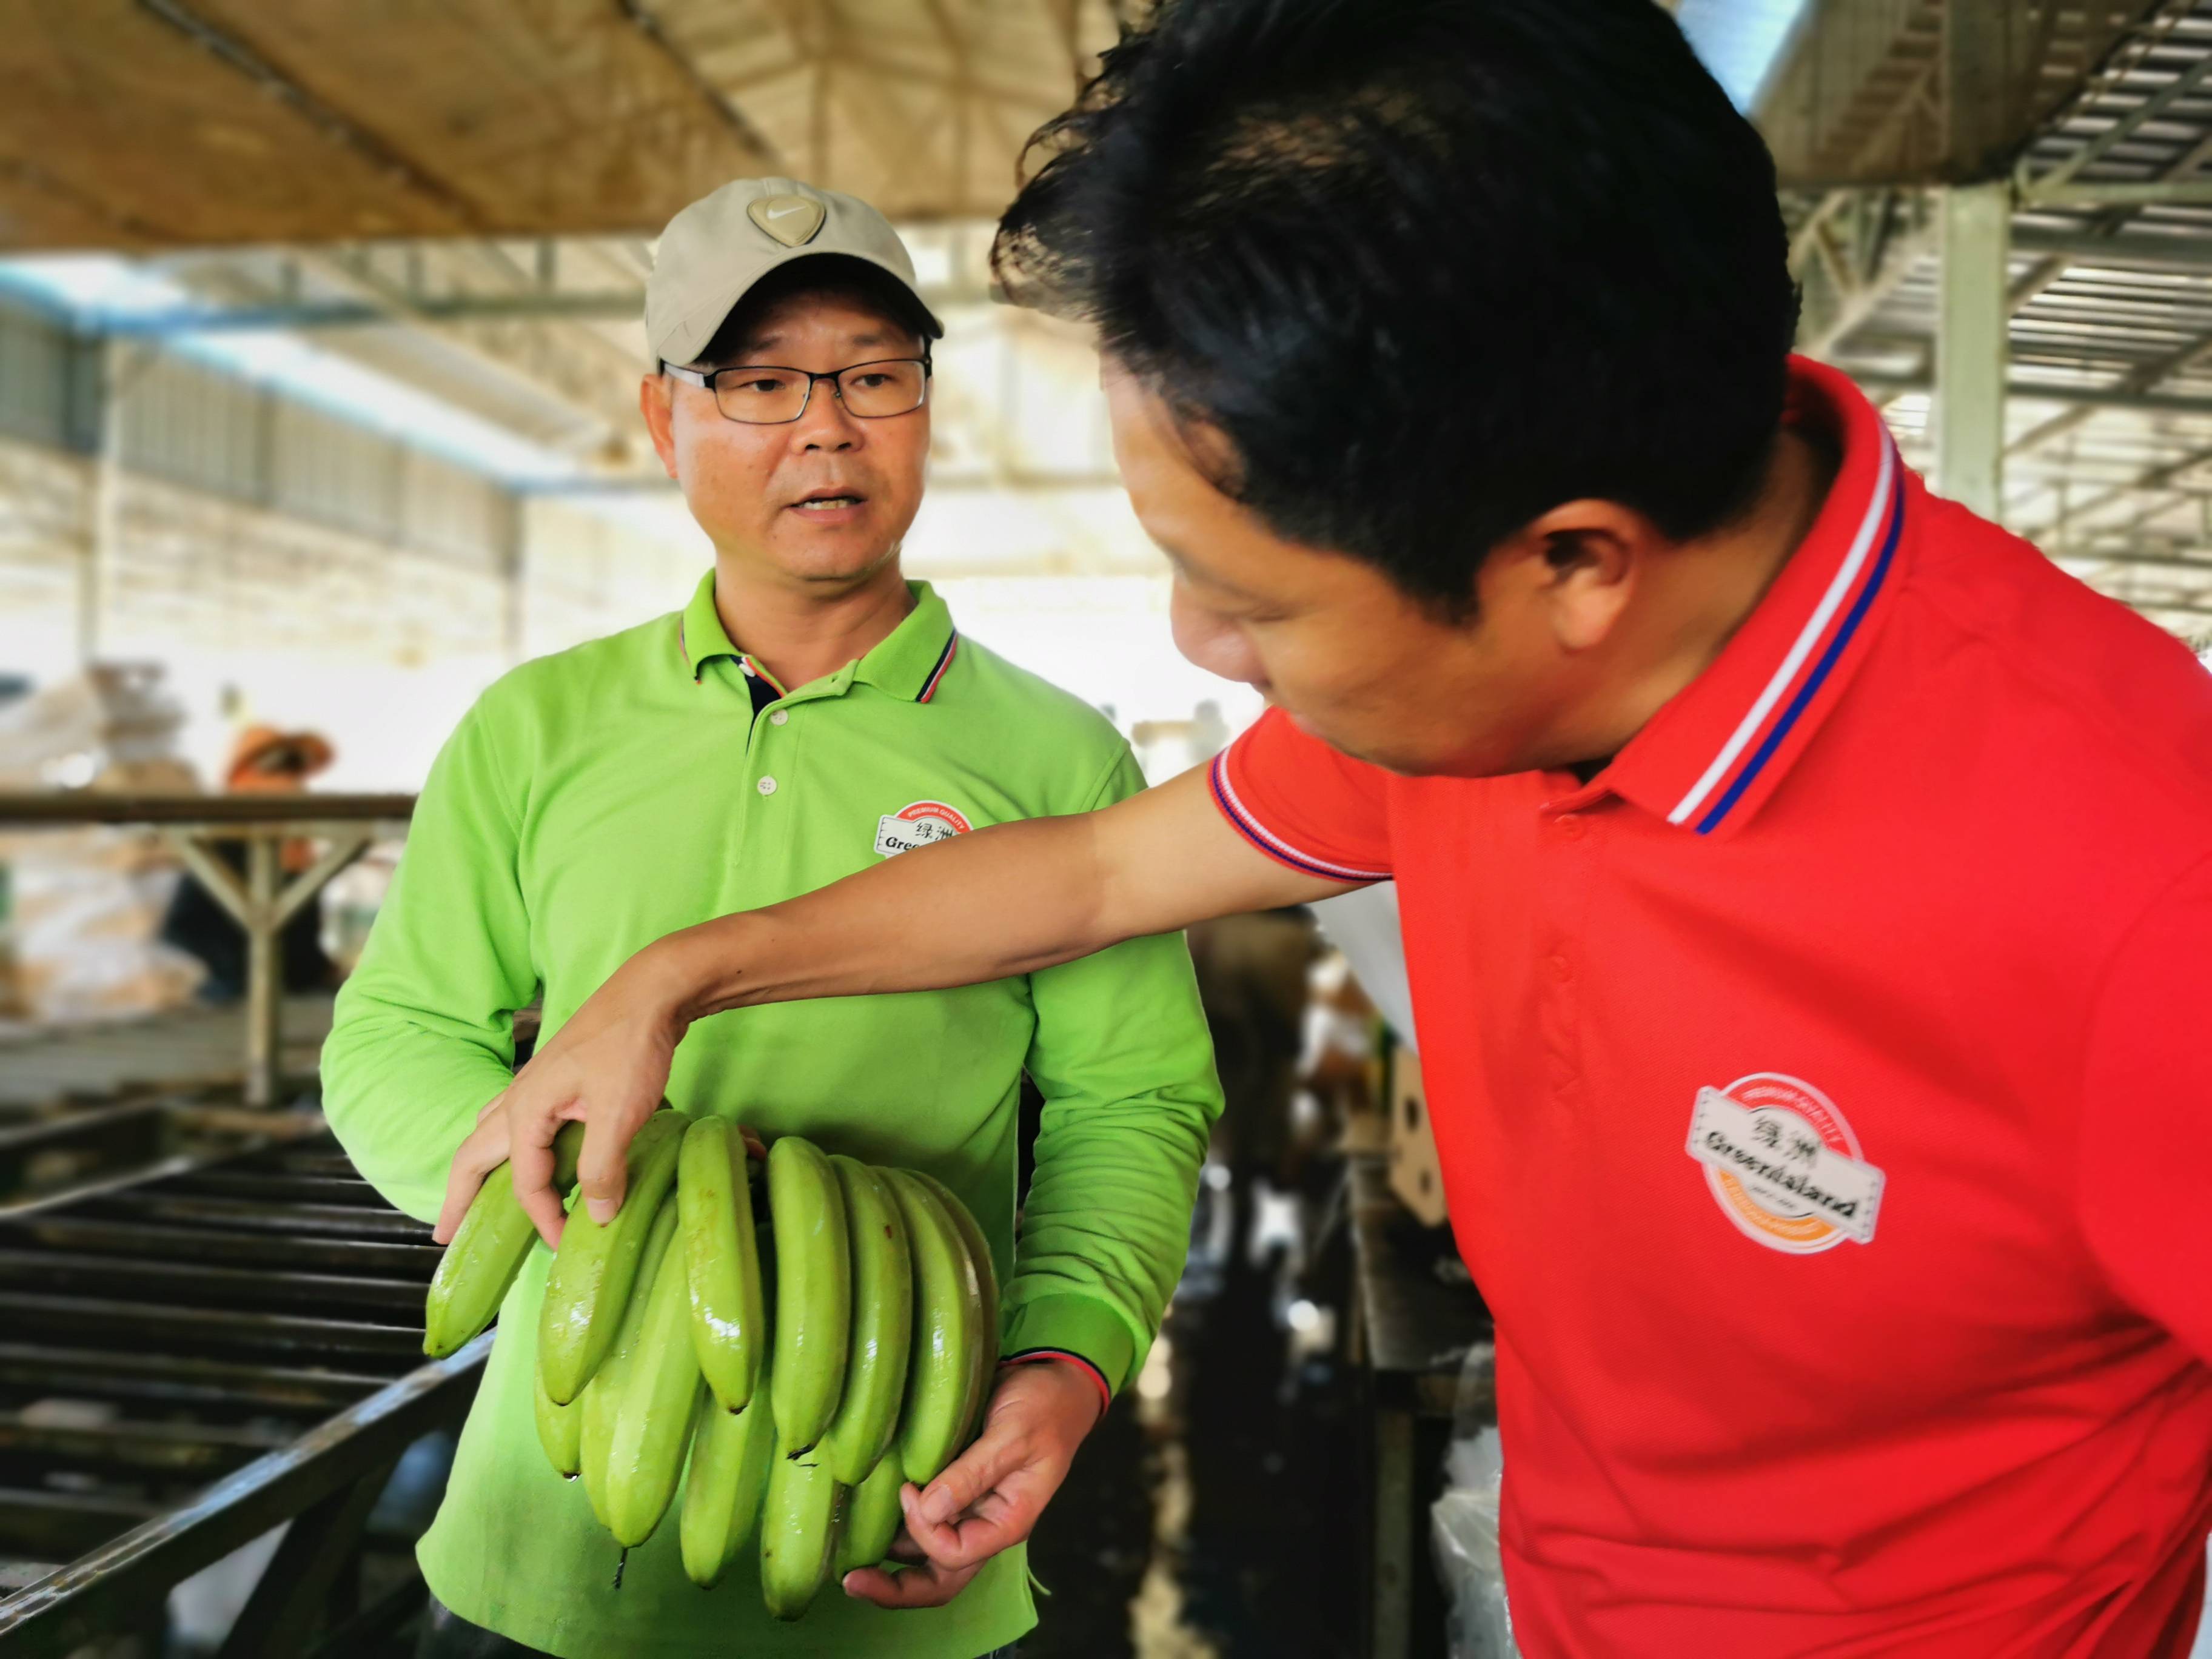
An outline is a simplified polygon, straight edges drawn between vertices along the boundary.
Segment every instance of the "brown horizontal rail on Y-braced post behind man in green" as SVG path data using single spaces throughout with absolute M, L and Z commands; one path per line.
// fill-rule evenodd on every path
M 283 1093 L 279 1011 L 281 936 L 307 900 L 378 841 L 405 834 L 411 794 L 0 794 L 0 830 L 155 825 L 199 883 L 246 929 L 246 1104 L 276 1106 Z M 283 878 L 285 841 L 327 843 L 301 874 Z M 246 880 L 215 854 L 217 841 L 246 843 Z

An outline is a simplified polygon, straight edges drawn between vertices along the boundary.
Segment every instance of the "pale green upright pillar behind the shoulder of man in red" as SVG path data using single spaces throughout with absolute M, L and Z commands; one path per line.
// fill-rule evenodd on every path
M 1997 518 L 2004 487 L 2004 356 L 2011 184 L 1942 192 L 1936 305 L 1936 491 Z

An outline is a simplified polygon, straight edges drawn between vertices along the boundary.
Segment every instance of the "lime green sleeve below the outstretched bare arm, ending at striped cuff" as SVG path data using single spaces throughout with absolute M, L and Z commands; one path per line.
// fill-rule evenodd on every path
M 1124 748 L 1091 807 L 1144 787 Z M 1214 1051 L 1181 933 L 1029 978 L 1029 1075 L 1044 1095 L 1000 1354 L 1075 1356 L 1119 1391 L 1152 1345 L 1190 1250 Z

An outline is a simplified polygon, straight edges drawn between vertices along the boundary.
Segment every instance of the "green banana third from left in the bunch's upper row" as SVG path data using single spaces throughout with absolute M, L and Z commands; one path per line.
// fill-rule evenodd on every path
M 677 1203 L 684 1206 L 692 1352 L 726 1411 L 743 1411 L 752 1400 L 768 1347 L 745 1164 L 745 1141 L 728 1119 L 701 1117 L 684 1130 Z

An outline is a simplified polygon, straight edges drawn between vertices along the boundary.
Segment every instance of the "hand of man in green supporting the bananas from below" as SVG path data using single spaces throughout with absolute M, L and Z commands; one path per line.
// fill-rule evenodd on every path
M 1099 1416 L 1097 1385 L 1073 1365 L 1006 1367 L 991 1394 L 982 1438 L 927 1491 L 907 1482 L 898 1493 L 907 1524 L 891 1555 L 911 1566 L 896 1573 L 854 1568 L 845 1575 L 845 1595 L 878 1608 L 951 1601 L 984 1562 L 1029 1537 Z

